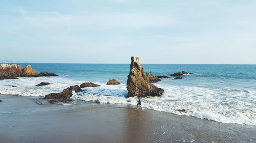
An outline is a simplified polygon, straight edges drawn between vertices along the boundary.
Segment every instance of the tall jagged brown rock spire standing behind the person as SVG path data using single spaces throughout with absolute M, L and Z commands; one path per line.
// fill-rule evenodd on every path
M 164 91 L 150 83 L 150 79 L 140 65 L 139 58 L 132 56 L 131 60 L 130 73 L 126 83 L 127 97 L 162 96 Z

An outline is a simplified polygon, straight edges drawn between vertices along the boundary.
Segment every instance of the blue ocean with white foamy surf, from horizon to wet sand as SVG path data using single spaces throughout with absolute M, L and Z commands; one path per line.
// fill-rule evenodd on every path
M 84 104 L 130 104 L 136 98 L 126 98 L 126 80 L 130 64 L 20 64 L 31 65 L 37 72 L 52 72 L 56 77 L 19 77 L 0 80 L 0 93 L 44 97 L 61 92 L 70 85 L 94 82 L 101 87 L 83 88 L 74 93 L 74 100 Z M 168 75 L 186 71 L 183 79 L 161 78 L 154 83 L 164 90 L 162 97 L 142 98 L 142 107 L 157 111 L 186 115 L 221 123 L 256 126 L 256 65 L 196 65 L 142 64 L 145 72 Z M 115 78 L 121 84 L 106 85 Z M 40 82 L 52 84 L 35 87 Z M 16 87 L 12 87 L 15 85 Z M 180 111 L 184 109 L 183 111 Z

